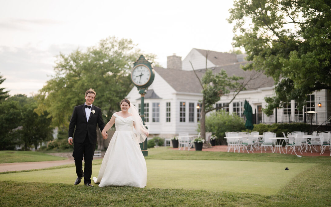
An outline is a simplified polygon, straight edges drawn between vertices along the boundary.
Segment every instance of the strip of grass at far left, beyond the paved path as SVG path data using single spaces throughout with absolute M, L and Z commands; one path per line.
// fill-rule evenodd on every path
M 68 158 L 56 157 L 41 152 L 32 151 L 0 151 L 0 163 L 13 163 L 13 162 L 40 162 L 40 161 L 54 161 L 66 160 Z

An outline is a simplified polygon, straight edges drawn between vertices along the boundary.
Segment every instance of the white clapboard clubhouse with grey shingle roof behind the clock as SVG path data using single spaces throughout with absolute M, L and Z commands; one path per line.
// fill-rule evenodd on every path
M 195 48 L 183 61 L 175 54 L 168 56 L 167 68 L 154 68 L 155 79 L 145 95 L 145 122 L 150 134 L 169 138 L 179 132 L 197 133 L 202 87 L 192 70 L 190 61 L 201 78 L 206 71 L 206 57 L 207 68 L 213 70 L 213 73 L 218 73 L 224 69 L 229 76 L 241 76 L 246 81 L 252 79 L 247 84 L 246 90 L 241 91 L 234 101 L 224 108 L 230 113 L 236 113 L 243 117 L 244 101 L 247 100 L 252 106 L 257 124 L 304 122 L 306 119 L 304 110 L 316 111 L 317 114 L 324 113 L 325 118 L 319 120 L 316 120 L 314 115 L 315 125 L 322 124 L 327 117 L 330 117 L 331 94 L 326 90 L 315 91 L 309 95 L 308 104 L 304 110 L 299 111 L 296 108 L 296 103 L 292 100 L 285 104 L 284 108 L 275 110 L 274 115 L 265 116 L 262 112 L 262 108 L 266 105 L 264 97 L 273 95 L 274 80 L 260 72 L 242 70 L 241 66 L 247 64 L 244 59 L 245 56 L 245 54 L 236 55 Z M 140 109 L 140 94 L 136 87 L 133 87 L 126 97 Z M 226 105 L 232 98 L 232 93 L 224 95 L 216 105 Z M 317 106 L 316 103 L 319 102 L 323 107 Z

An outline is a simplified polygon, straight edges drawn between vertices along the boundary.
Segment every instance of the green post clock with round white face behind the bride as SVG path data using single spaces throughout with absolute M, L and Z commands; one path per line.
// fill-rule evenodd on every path
M 131 71 L 131 81 L 139 90 L 141 95 L 140 103 L 140 117 L 145 125 L 145 104 L 144 98 L 147 88 L 152 84 L 154 80 L 154 69 L 152 63 L 149 62 L 144 55 L 141 55 L 139 59 L 133 63 L 133 69 Z M 147 128 L 147 127 L 146 127 Z M 144 156 L 148 156 L 147 139 L 140 143 L 140 148 Z

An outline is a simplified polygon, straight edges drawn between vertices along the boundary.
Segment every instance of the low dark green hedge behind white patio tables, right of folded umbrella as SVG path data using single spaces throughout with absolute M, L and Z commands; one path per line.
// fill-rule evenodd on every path
M 310 131 L 310 126 L 306 123 L 292 123 L 292 124 L 287 124 L 287 123 L 274 123 L 274 124 L 258 124 L 254 125 L 253 131 L 258 131 L 260 134 L 262 134 L 265 131 L 272 131 L 276 133 L 277 137 L 283 137 L 283 133 L 287 134 L 287 132 L 292 132 L 292 131 Z

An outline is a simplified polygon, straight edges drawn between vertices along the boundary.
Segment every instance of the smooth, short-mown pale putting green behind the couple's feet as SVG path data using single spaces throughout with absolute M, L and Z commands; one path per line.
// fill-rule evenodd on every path
M 179 188 L 270 195 L 316 164 L 218 160 L 146 160 L 147 188 Z M 288 167 L 291 171 L 285 171 Z M 98 177 L 100 165 L 93 165 Z M 272 179 L 271 179 L 272 178 Z M 0 175 L 1 181 L 37 181 L 72 184 L 75 168 Z

